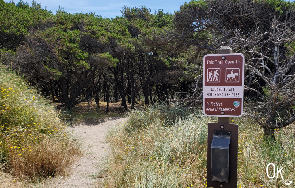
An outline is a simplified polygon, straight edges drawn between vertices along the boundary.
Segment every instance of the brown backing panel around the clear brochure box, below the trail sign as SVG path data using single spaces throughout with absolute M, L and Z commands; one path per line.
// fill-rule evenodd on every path
M 223 127 L 222 127 L 223 126 Z M 223 129 L 222 129 L 222 128 Z M 212 159 L 212 140 L 214 131 L 228 131 L 231 133 L 230 145 L 229 145 L 229 179 L 227 182 L 212 181 L 211 177 L 211 159 Z M 208 187 L 222 187 L 224 188 L 236 188 L 237 187 L 237 150 L 238 150 L 238 125 L 226 124 L 226 123 L 208 123 L 208 162 L 207 162 L 207 186 Z M 219 159 L 223 160 L 223 159 Z M 214 179 L 214 178 L 213 178 Z

